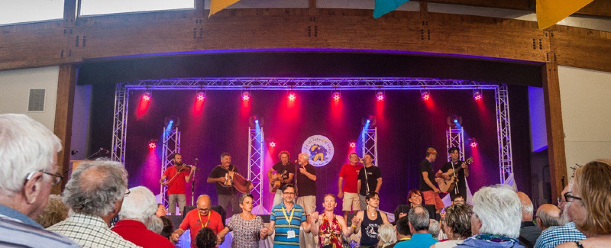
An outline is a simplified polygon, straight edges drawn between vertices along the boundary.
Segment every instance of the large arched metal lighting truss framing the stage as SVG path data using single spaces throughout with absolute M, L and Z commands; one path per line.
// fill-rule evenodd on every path
M 494 90 L 500 183 L 513 173 L 507 85 L 438 78 L 171 78 L 117 83 L 112 159 L 125 162 L 130 90 Z

